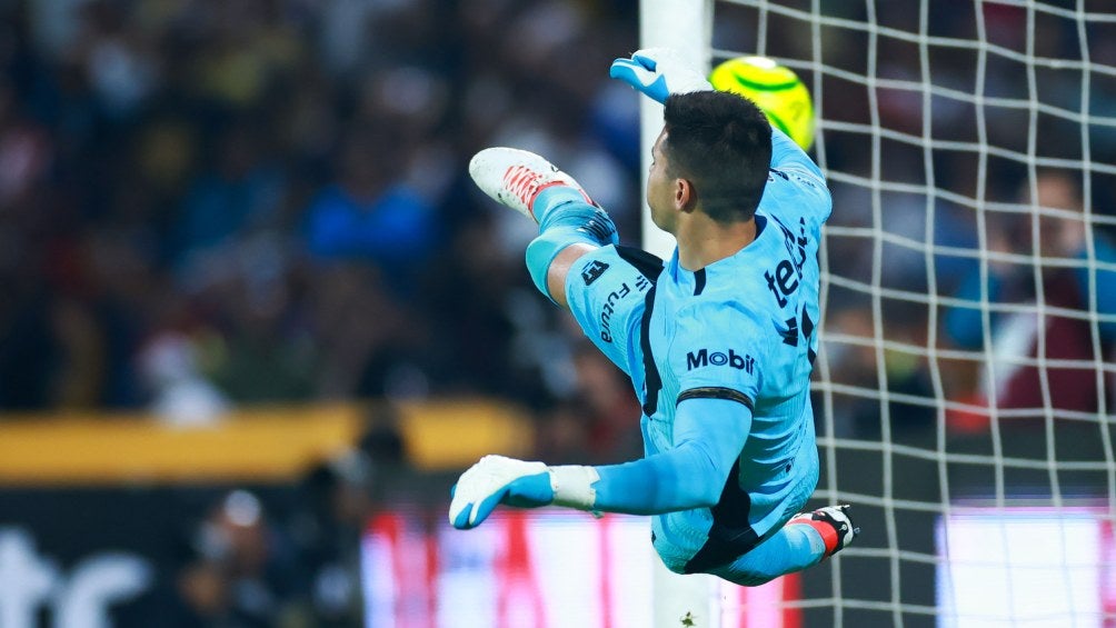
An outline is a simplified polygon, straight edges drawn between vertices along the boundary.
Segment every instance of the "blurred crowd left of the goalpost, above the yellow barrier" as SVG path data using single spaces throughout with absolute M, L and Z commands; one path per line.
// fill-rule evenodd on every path
M 635 232 L 622 4 L 0 3 L 0 410 L 568 397 L 465 165 L 542 152 Z

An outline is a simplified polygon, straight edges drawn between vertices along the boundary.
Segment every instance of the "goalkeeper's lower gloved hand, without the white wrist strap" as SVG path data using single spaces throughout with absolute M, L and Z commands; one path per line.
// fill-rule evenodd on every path
M 496 455 L 462 473 L 452 494 L 450 523 L 458 530 L 480 525 L 497 504 L 537 508 L 555 499 L 547 465 Z

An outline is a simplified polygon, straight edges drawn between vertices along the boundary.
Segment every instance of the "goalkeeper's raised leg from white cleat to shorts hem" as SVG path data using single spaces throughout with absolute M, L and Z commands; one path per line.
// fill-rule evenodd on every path
M 535 153 L 485 148 L 473 156 L 469 174 L 485 194 L 539 223 L 527 268 L 543 294 L 568 307 L 566 276 L 574 262 L 618 242 L 612 219 L 574 177 Z

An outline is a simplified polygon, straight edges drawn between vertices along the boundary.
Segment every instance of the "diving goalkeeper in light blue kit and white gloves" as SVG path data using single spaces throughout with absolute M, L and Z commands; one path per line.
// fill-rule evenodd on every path
M 500 503 L 653 515 L 672 571 L 761 584 L 858 533 L 847 506 L 799 512 L 818 481 L 809 387 L 829 192 L 756 105 L 714 91 L 671 51 L 617 59 L 609 74 L 665 105 L 646 190 L 652 220 L 677 241 L 665 263 L 619 245 L 605 211 L 538 155 L 488 148 L 470 174 L 539 223 L 531 278 L 631 376 L 645 455 L 603 466 L 485 456 L 455 485 L 450 522 L 473 528 Z

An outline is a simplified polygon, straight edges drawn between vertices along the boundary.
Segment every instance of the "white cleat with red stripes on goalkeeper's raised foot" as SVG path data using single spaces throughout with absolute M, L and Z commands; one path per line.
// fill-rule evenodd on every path
M 469 162 L 469 174 L 485 194 L 535 222 L 539 219 L 531 206 L 547 187 L 568 185 L 580 192 L 587 203 L 595 204 L 573 176 L 539 155 L 518 148 L 498 146 L 477 153 Z

